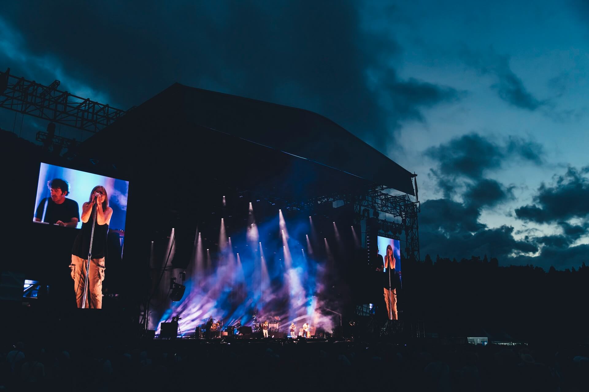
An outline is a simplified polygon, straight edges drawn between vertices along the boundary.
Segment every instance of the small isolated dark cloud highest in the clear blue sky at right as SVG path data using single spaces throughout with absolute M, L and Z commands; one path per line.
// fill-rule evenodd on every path
M 544 102 L 535 98 L 524 86 L 519 76 L 511 70 L 509 57 L 501 56 L 492 51 L 474 53 L 464 48 L 461 52 L 464 62 L 482 74 L 495 76 L 496 82 L 491 85 L 499 98 L 520 109 L 536 110 Z

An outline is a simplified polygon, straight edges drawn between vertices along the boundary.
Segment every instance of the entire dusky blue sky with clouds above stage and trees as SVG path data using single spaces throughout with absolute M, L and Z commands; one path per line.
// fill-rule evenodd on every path
M 565 269 L 589 259 L 588 19 L 573 0 L 13 1 L 0 68 L 121 109 L 180 82 L 312 110 L 418 174 L 422 259 Z

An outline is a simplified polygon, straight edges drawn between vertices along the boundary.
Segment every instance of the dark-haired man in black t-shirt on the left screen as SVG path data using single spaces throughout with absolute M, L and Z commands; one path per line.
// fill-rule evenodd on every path
M 54 223 L 59 226 L 76 227 L 80 220 L 80 209 L 75 200 L 67 199 L 70 184 L 55 178 L 47 182 L 51 197 L 45 197 L 35 211 L 35 222 Z

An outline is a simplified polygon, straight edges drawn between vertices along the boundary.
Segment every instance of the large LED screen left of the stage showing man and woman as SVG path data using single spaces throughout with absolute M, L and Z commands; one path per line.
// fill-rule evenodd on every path
M 122 257 L 128 188 L 125 180 L 41 163 L 33 221 L 70 227 L 47 233 L 63 234 L 54 237 L 60 252 L 71 249 L 71 259 L 63 260 L 69 273 L 59 271 L 70 275 L 78 308 L 102 309 L 105 270 L 117 271 Z

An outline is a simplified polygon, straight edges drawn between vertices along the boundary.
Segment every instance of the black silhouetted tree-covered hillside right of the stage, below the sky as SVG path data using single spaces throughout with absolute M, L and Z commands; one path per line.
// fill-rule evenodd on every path
M 402 262 L 399 307 L 425 322 L 426 333 L 488 335 L 489 340 L 587 341 L 589 267 L 546 272 L 481 259 L 427 254 Z

